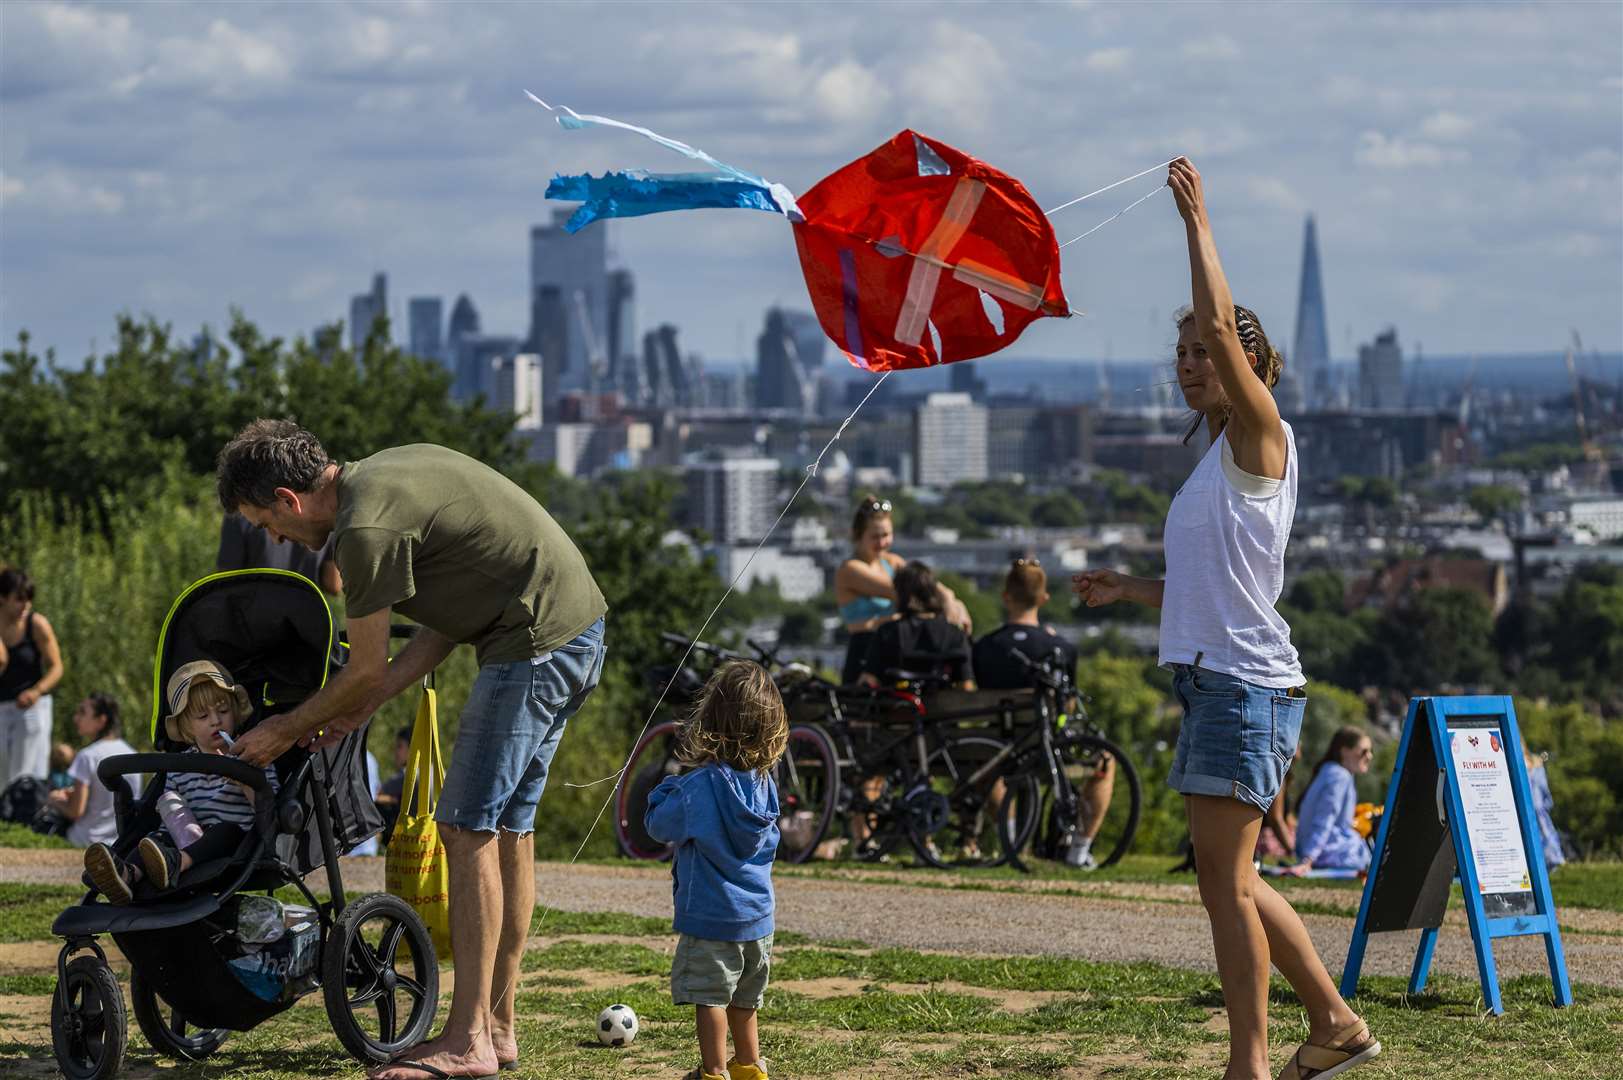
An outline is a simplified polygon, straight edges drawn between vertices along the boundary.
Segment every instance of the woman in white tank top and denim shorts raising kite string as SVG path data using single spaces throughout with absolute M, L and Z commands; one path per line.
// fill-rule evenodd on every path
M 1167 781 L 1183 794 L 1201 903 L 1212 922 L 1229 1010 L 1225 1080 L 1264 1080 L 1268 968 L 1290 981 L 1308 1041 L 1281 1080 L 1329 1080 L 1381 1051 L 1347 1007 L 1302 919 L 1251 864 L 1263 814 L 1295 754 L 1307 695 L 1290 627 L 1274 609 L 1297 503 L 1297 450 L 1272 385 L 1282 361 L 1256 315 L 1229 294 L 1201 177 L 1186 158 L 1167 175 L 1190 244 L 1193 309 L 1178 317 L 1178 385 L 1211 448 L 1167 512 L 1165 580 L 1076 575 L 1089 607 L 1160 607 L 1160 663 L 1183 724 Z

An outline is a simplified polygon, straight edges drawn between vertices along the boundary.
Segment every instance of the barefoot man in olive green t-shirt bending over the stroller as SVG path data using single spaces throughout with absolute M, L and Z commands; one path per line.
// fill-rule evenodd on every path
M 255 421 L 219 455 L 219 499 L 276 538 L 333 539 L 349 663 L 232 754 L 268 763 L 299 741 L 336 741 L 458 645 L 479 659 L 435 822 L 450 862 L 459 978 L 440 1038 L 378 1080 L 484 1077 L 518 1057 L 513 991 L 536 906 L 536 809 L 565 724 L 597 685 L 604 604 L 558 523 L 495 469 L 411 445 L 334 464 L 310 432 Z M 420 624 L 388 658 L 390 617 Z M 419 1065 L 425 1065 L 422 1069 Z

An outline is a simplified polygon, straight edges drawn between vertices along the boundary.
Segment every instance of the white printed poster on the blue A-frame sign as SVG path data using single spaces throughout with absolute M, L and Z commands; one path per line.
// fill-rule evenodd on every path
M 1498 728 L 1449 728 L 1448 741 L 1477 887 L 1483 895 L 1532 892 L 1505 739 Z

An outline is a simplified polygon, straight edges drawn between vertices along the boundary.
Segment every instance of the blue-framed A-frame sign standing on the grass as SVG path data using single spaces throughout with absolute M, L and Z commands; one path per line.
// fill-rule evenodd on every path
M 1409 702 L 1386 810 L 1375 835 L 1370 877 L 1363 883 L 1347 968 L 1341 976 L 1344 997 L 1358 991 L 1368 935 L 1383 931 L 1420 931 L 1409 992 L 1425 989 L 1456 870 L 1488 1009 L 1505 1012 L 1493 939 L 1524 934 L 1543 935 L 1555 1004 L 1571 1005 L 1573 987 L 1550 900 L 1521 731 L 1508 697 L 1417 697 Z

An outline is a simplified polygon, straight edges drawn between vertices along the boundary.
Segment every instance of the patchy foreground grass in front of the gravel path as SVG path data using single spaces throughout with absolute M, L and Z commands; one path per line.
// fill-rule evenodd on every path
M 1159 861 L 1156 867 L 1164 869 Z M 11 942 L 0 945 L 0 1075 L 54 1075 L 49 924 L 78 895 L 67 887 L 0 885 L 0 942 Z M 553 911 L 537 913 L 536 926 L 542 937 L 531 944 L 518 991 L 523 1067 L 514 1080 L 675 1077 L 693 1065 L 691 1010 L 669 997 L 674 939 L 665 919 Z M 19 945 L 26 942 L 41 945 Z M 1436 978 L 1410 997 L 1401 979 L 1365 979 L 1357 1004 L 1386 1052 L 1354 1075 L 1617 1075 L 1623 991 L 1579 986 L 1576 992 L 1578 1005 L 1558 1010 L 1547 979 L 1514 979 L 1505 987 L 1506 1013 L 1492 1017 L 1480 1012 L 1470 981 Z M 631 1005 L 644 1025 L 638 1041 L 620 1051 L 592 1036 L 597 1012 L 613 1002 Z M 870 950 L 782 934 L 761 1043 L 774 1077 L 1216 1077 L 1227 1038 L 1220 1007 L 1216 978 L 1201 971 Z M 1277 979 L 1272 1025 L 1279 1067 L 1307 1028 Z M 203 1065 L 161 1072 L 156 1065 L 131 1022 L 130 1077 L 360 1075 L 333 1038 L 320 996 L 230 1036 Z

